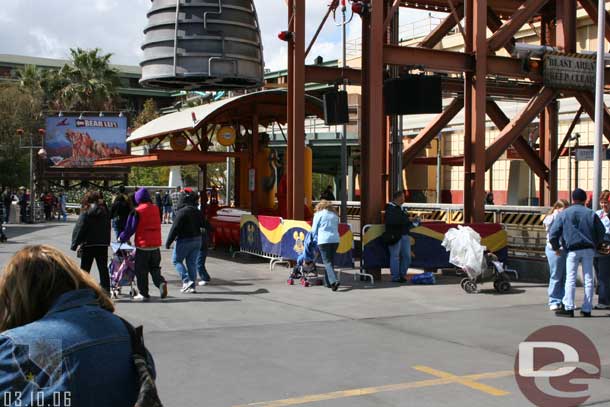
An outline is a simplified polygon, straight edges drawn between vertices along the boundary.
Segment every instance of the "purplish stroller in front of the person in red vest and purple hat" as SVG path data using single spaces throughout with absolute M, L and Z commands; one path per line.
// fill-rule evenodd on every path
M 126 243 L 112 243 L 112 260 L 108 265 L 110 273 L 110 295 L 119 298 L 121 288 L 129 286 L 129 296 L 138 295 L 138 289 L 134 284 L 136 276 L 135 247 Z

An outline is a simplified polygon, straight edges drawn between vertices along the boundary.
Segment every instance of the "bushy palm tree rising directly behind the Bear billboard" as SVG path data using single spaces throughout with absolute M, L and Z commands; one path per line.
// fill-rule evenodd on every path
M 112 54 L 99 48 L 70 49 L 72 61 L 59 71 L 65 85 L 59 91 L 64 110 L 112 110 L 119 85 L 118 70 L 110 67 Z

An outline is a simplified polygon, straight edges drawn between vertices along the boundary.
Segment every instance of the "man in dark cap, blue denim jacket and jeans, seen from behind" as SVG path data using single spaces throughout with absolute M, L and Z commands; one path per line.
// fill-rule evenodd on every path
M 579 264 L 582 264 L 585 280 L 585 298 L 580 313 L 584 317 L 590 317 L 593 308 L 593 258 L 597 247 L 603 241 L 606 229 L 599 217 L 591 209 L 585 207 L 586 200 L 586 192 L 576 188 L 572 192 L 574 204 L 561 212 L 549 232 L 549 242 L 557 255 L 560 255 L 559 239 L 568 253 L 563 308 L 555 311 L 555 315 L 560 317 L 574 316 L 576 275 Z

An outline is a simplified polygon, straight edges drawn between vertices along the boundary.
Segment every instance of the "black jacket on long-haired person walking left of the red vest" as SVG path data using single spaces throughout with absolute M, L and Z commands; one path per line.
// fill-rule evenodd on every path
M 110 213 L 104 204 L 92 204 L 78 217 L 72 231 L 72 250 L 78 246 L 110 245 Z

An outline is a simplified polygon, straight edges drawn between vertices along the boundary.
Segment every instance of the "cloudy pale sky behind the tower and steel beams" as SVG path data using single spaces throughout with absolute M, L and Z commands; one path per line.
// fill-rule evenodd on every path
M 329 0 L 307 1 L 307 32 L 311 37 L 321 21 Z M 137 65 L 140 61 L 142 30 L 150 0 L 1 0 L 0 54 L 67 58 L 69 49 L 101 48 L 113 54 L 116 64 Z M 286 47 L 277 39 L 286 28 L 284 0 L 256 0 L 263 35 L 266 67 L 286 67 Z M 404 12 L 404 22 L 425 17 L 425 12 Z M 349 36 L 359 37 L 360 19 L 349 25 Z M 312 60 L 338 59 L 341 32 L 332 20 L 327 22 Z

